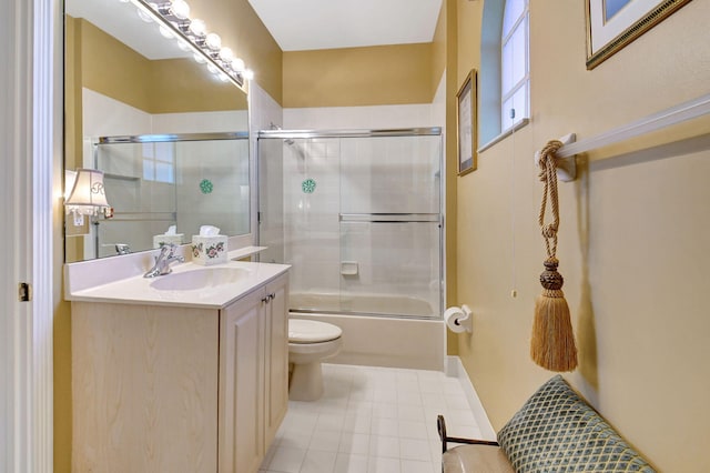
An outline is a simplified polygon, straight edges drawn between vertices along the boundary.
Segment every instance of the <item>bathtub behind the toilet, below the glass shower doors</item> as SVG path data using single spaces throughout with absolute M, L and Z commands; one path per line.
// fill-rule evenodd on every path
M 424 300 L 298 292 L 288 298 L 291 318 L 328 322 L 343 330 L 343 348 L 328 363 L 444 369 L 446 328 L 438 309 Z

